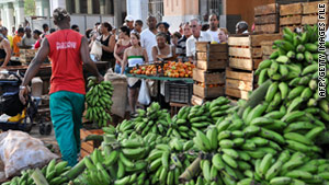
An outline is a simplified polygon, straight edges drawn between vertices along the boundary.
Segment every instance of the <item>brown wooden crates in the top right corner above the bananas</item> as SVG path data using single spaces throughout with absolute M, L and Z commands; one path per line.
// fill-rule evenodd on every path
M 280 5 L 280 30 L 290 27 L 292 31 L 303 25 L 318 23 L 318 4 L 326 3 L 326 20 L 328 21 L 328 1 L 292 3 Z

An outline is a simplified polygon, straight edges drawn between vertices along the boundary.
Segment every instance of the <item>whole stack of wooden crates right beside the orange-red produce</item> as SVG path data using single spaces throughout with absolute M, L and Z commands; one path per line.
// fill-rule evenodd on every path
M 193 69 L 192 104 L 201 105 L 224 95 L 227 44 L 196 43 L 196 68 Z

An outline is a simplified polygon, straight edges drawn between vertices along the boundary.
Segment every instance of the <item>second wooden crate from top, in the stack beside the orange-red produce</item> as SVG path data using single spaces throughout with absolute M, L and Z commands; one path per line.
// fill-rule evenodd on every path
M 225 84 L 225 72 L 207 72 L 203 69 L 193 69 L 193 80 L 204 84 Z

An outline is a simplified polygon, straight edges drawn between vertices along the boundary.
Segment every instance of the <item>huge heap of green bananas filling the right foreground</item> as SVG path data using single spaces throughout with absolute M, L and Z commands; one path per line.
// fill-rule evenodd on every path
M 63 184 L 79 185 L 328 184 L 329 91 L 318 96 L 317 27 L 283 32 L 274 42 L 277 51 L 260 63 L 259 88 L 247 102 L 234 106 L 218 97 L 173 117 L 152 103 L 132 120 L 103 127 L 101 147 L 79 169 L 49 181 L 59 175 L 66 176 Z

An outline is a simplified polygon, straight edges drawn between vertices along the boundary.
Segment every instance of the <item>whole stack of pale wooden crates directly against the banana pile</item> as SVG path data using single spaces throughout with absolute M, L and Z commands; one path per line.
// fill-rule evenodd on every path
M 263 60 L 262 42 L 280 39 L 280 34 L 235 35 L 228 38 L 229 67 L 226 69 L 226 95 L 248 99 L 254 88 L 253 71 Z

